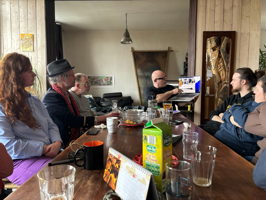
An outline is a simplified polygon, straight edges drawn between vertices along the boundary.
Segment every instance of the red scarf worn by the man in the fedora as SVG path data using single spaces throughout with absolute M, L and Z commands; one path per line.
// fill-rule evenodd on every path
M 70 101 L 71 103 L 68 101 L 68 98 L 66 97 L 66 95 L 64 94 L 64 92 L 61 90 L 61 88 L 58 86 L 58 85 L 52 85 L 53 89 L 58 93 L 58 94 L 61 94 L 61 96 L 65 99 L 66 101 L 66 104 L 69 108 L 69 110 L 71 111 L 71 113 L 73 115 L 75 115 L 74 113 L 74 110 L 73 110 L 73 107 L 72 105 L 74 106 L 76 112 L 77 112 L 77 115 L 80 116 L 80 110 L 78 109 L 78 106 L 77 106 L 77 103 L 75 101 L 75 99 L 72 97 L 72 95 L 69 93 L 69 91 L 67 91 L 67 93 L 69 94 L 69 98 L 70 98 Z M 66 147 L 69 146 L 69 143 L 72 141 L 72 140 L 76 140 L 78 138 L 78 135 L 79 135 L 79 132 L 80 132 L 80 129 L 79 128 L 73 128 L 71 129 L 71 135 L 70 135 L 70 138 L 69 138 L 69 141 L 66 145 Z

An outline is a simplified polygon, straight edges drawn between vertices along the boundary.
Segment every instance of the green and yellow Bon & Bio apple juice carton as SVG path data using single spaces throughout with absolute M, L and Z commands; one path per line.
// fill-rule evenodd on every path
M 143 167 L 151 171 L 161 192 L 165 191 L 165 163 L 172 160 L 172 127 L 163 118 L 152 119 L 143 128 Z

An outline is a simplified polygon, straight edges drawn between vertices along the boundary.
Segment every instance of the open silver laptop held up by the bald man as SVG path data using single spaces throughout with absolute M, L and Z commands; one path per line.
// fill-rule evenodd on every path
M 182 89 L 182 94 L 177 94 L 169 100 L 172 101 L 192 101 L 195 95 L 200 95 L 200 76 L 179 77 L 179 89 Z

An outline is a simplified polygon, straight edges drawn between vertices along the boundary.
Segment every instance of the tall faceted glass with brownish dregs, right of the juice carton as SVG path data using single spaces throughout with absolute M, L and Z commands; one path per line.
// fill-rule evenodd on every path
M 193 182 L 199 186 L 211 185 L 217 149 L 208 145 L 192 145 Z

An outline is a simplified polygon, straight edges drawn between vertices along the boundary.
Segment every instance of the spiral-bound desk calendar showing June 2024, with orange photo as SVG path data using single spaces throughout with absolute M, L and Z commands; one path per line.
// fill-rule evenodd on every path
M 103 179 L 124 200 L 158 199 L 152 173 L 113 148 Z

